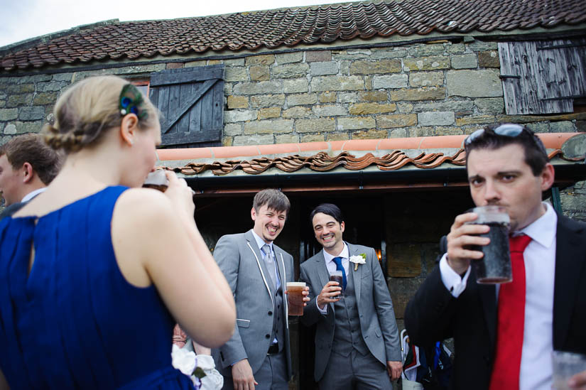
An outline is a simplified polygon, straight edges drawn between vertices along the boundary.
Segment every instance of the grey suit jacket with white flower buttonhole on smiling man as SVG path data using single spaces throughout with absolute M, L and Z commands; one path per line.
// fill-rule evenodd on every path
M 349 272 L 354 275 L 354 291 L 358 314 L 360 316 L 360 330 L 362 337 L 371 354 L 386 366 L 387 361 L 401 361 L 401 347 L 393 302 L 389 287 L 379 266 L 379 259 L 374 249 L 362 245 L 348 244 L 350 256 L 366 254 L 365 264 L 360 264 L 354 271 L 354 264 L 350 263 Z M 316 296 L 323 286 L 330 280 L 325 266 L 323 251 L 301 264 L 300 279 L 310 287 L 310 302 L 303 310 L 301 322 L 305 325 L 317 323 L 315 332 L 315 380 L 319 381 L 327 367 L 327 361 L 332 352 L 332 341 L 335 330 L 334 304 L 329 303 L 327 315 L 322 315 L 316 304 Z

